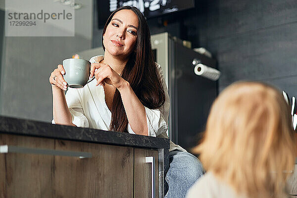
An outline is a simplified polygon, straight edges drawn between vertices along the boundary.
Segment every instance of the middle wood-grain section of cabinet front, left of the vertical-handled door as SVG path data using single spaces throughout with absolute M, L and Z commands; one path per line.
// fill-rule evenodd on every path
M 93 156 L 55 157 L 54 197 L 133 197 L 133 148 L 56 140 L 55 149 L 91 152 Z

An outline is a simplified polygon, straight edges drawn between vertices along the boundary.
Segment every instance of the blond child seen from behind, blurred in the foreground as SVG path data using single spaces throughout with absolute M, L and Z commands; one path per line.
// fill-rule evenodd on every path
M 229 86 L 213 103 L 196 152 L 207 173 L 187 198 L 285 198 L 296 143 L 290 108 L 275 88 Z

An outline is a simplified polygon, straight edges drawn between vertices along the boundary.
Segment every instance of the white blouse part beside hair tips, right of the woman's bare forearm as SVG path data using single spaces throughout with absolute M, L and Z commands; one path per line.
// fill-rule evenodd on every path
M 147 124 L 148 124 L 148 136 L 156 137 L 161 133 L 164 133 L 168 130 L 168 116 L 169 116 L 169 108 L 170 108 L 170 100 L 168 95 L 167 86 L 164 80 L 162 68 L 159 64 L 157 64 L 161 82 L 163 84 L 164 93 L 165 93 L 165 103 L 158 109 L 149 109 L 145 106 L 146 115 L 147 115 Z M 128 123 L 128 132 L 135 134 Z

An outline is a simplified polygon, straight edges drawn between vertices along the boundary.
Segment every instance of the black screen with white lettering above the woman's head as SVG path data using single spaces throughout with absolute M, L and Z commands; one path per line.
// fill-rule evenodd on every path
M 195 7 L 195 0 L 98 0 L 99 28 L 103 28 L 108 16 L 118 7 L 138 7 L 146 18 Z

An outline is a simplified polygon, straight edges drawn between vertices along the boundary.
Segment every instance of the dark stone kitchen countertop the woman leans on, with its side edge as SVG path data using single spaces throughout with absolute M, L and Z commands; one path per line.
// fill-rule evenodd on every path
M 21 135 L 102 145 L 155 149 L 158 151 L 159 196 L 167 189 L 161 184 L 169 169 L 169 139 L 57 125 L 46 122 L 0 116 L 0 135 Z M 161 180 L 160 180 L 161 178 Z

